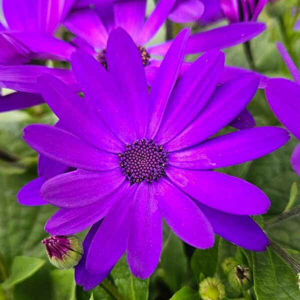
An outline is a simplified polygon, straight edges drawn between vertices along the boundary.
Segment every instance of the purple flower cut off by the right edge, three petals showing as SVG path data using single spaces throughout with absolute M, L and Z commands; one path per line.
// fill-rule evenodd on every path
M 279 42 L 276 45 L 294 82 L 284 78 L 269 79 L 265 95 L 279 121 L 297 139 L 300 139 L 300 71 L 283 45 Z M 300 176 L 300 144 L 295 147 L 290 161 L 293 169 Z

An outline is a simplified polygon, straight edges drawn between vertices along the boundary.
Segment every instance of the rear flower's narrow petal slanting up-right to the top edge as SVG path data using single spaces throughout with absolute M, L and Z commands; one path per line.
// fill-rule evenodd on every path
M 155 5 L 153 11 L 147 18 L 139 35 L 137 36 L 136 43 L 145 45 L 162 26 L 168 14 L 170 13 L 175 0 L 159 0 Z

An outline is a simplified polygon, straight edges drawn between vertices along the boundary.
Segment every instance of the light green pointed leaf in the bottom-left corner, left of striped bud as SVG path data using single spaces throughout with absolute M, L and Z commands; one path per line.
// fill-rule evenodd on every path
M 16 256 L 13 259 L 9 277 L 2 283 L 4 289 L 10 288 L 32 276 L 42 267 L 45 260 L 35 257 Z

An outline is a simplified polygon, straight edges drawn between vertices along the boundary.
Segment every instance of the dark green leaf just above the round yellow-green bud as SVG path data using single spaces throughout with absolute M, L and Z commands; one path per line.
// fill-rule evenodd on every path
M 196 249 L 193 252 L 190 267 L 198 283 L 200 273 L 205 277 L 213 277 L 218 262 L 218 243 L 219 237 L 215 236 L 213 247 L 206 250 Z

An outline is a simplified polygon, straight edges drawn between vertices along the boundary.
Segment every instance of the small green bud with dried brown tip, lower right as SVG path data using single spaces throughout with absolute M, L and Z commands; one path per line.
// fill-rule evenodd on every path
M 228 273 L 228 282 L 236 290 L 247 290 L 253 285 L 252 271 L 247 266 L 237 265 Z

